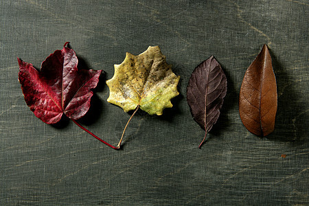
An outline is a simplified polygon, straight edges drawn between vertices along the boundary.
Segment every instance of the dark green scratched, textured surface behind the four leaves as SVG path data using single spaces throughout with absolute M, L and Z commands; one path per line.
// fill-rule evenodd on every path
M 0 205 L 309 205 L 308 9 L 308 0 L 0 0 Z M 106 102 L 104 82 L 126 52 L 161 47 L 181 76 L 174 107 L 137 113 L 118 151 L 71 121 L 43 123 L 23 100 L 16 57 L 41 67 L 66 41 L 81 66 L 106 72 L 80 122 L 109 143 L 131 114 Z M 275 132 L 260 138 L 240 121 L 238 93 L 263 44 L 278 111 Z M 204 131 L 185 93 L 211 55 L 228 91 L 199 150 Z

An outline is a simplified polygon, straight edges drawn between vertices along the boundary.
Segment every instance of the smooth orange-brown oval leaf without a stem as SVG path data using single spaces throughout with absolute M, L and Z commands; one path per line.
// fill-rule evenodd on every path
M 244 74 L 239 112 L 242 124 L 255 135 L 266 136 L 275 129 L 277 83 L 266 45 Z

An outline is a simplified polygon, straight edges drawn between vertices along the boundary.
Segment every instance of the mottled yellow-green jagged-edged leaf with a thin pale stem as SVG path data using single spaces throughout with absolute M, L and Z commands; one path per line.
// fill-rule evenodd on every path
M 170 100 L 179 95 L 179 78 L 172 72 L 172 66 L 166 63 L 158 46 L 148 47 L 138 56 L 126 53 L 124 61 L 115 65 L 113 78 L 106 81 L 110 90 L 107 101 L 122 107 L 125 112 L 135 109 L 136 113 L 141 108 L 150 115 L 162 115 L 164 108 L 172 107 Z

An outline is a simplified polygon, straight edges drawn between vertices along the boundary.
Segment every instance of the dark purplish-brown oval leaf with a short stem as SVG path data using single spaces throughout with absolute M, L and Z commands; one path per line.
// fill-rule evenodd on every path
M 207 133 L 216 124 L 220 115 L 223 98 L 227 94 L 227 77 L 220 64 L 211 56 L 198 65 L 187 85 L 187 104 L 194 120 Z

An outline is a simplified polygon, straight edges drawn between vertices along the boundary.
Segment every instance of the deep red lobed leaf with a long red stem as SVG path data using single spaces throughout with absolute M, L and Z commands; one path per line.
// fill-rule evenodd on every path
M 42 62 L 40 70 L 18 58 L 19 82 L 25 102 L 36 117 L 47 124 L 56 124 L 62 115 L 66 115 L 93 135 L 76 119 L 83 117 L 89 110 L 93 95 L 91 89 L 97 86 L 102 70 L 78 69 L 78 58 L 73 49 L 66 47 L 67 44 L 62 50 L 50 54 Z M 107 144 L 99 137 L 93 137 Z

